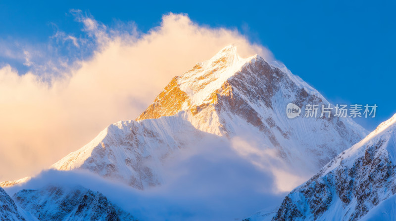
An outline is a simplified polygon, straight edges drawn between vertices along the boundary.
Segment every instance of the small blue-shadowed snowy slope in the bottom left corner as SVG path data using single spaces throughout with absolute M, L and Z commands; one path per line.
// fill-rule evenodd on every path
M 19 213 L 15 202 L 0 187 L 0 220 L 1 221 L 26 221 L 25 217 Z

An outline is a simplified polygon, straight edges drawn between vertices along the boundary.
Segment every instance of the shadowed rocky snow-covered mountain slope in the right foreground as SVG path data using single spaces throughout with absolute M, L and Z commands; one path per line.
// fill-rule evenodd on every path
M 284 199 L 275 221 L 395 220 L 396 114 Z

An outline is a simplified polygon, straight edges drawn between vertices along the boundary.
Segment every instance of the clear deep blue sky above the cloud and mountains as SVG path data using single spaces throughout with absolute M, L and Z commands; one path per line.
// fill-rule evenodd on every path
M 377 104 L 369 130 L 396 113 L 396 1 L 40 1 L 0 2 L 0 42 L 45 44 L 59 29 L 78 35 L 68 13 L 81 9 L 104 24 L 135 21 L 145 32 L 161 15 L 187 13 L 198 24 L 237 28 L 268 47 L 332 103 Z M 67 54 L 67 53 L 66 53 Z M 20 61 L 0 56 L 20 72 Z

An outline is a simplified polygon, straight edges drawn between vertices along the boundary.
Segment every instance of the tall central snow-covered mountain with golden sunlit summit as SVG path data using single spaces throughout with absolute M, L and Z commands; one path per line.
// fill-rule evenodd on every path
M 173 151 L 215 136 L 259 167 L 266 167 L 260 157 L 270 155 L 309 177 L 366 135 L 349 118 L 289 119 L 288 103 L 328 105 L 285 67 L 257 55 L 241 58 L 227 46 L 174 77 L 136 120 L 110 125 L 53 168 L 88 169 L 144 189 L 161 184 L 161 165 Z

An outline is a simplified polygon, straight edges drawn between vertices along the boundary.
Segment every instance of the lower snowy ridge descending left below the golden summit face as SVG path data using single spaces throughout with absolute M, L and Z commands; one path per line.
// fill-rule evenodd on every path
M 163 158 L 201 136 L 184 120 L 185 115 L 181 112 L 155 120 L 119 121 L 52 168 L 86 169 L 138 189 L 158 185 Z

